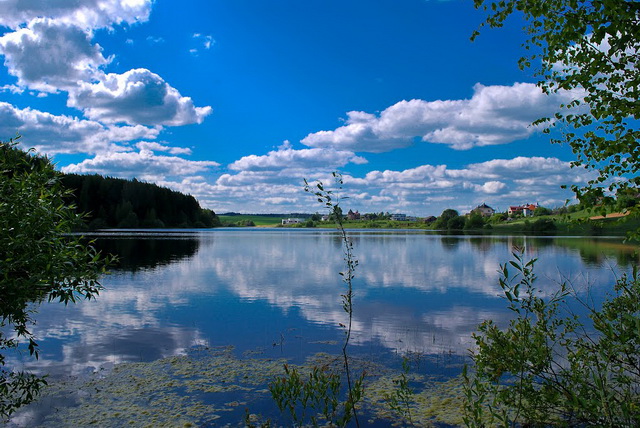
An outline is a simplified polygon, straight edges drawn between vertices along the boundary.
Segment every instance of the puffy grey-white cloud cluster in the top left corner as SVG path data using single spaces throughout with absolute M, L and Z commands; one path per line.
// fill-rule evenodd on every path
M 112 57 L 92 42 L 93 30 L 145 21 L 151 0 L 0 1 L 0 54 L 15 88 L 64 91 L 67 106 L 106 124 L 181 126 L 201 123 L 211 107 L 191 98 L 151 71 L 105 73 Z M 161 39 L 151 38 L 153 43 Z M 205 48 L 213 39 L 202 36 Z M 4 87 L 3 87 L 4 88 Z M 11 90 L 11 88 L 8 88 Z

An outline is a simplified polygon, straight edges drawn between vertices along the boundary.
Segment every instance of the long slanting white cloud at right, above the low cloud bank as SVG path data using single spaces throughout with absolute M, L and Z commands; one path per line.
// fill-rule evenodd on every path
M 476 84 L 471 99 L 400 101 L 379 115 L 348 112 L 344 126 L 309 134 L 302 143 L 374 153 L 410 146 L 415 138 L 456 150 L 506 144 L 527 138 L 534 120 L 553 114 L 573 97 L 545 95 L 530 83 Z

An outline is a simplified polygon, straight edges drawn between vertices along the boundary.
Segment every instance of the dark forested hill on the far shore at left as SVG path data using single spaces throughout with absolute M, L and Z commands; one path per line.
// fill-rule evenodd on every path
M 216 214 L 200 207 L 191 195 L 136 179 L 64 174 L 72 203 L 86 213 L 90 229 L 220 226 Z

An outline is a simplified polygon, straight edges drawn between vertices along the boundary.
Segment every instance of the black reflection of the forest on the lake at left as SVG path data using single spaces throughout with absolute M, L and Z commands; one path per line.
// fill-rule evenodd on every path
M 196 254 L 200 242 L 198 239 L 187 237 L 103 237 L 96 239 L 94 246 L 103 253 L 118 256 L 115 270 L 135 272 L 188 259 Z

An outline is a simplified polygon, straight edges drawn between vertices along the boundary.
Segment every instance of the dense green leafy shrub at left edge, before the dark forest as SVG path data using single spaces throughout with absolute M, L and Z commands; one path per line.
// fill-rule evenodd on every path
M 0 143 L 0 420 L 35 398 L 44 379 L 6 367 L 6 352 L 24 343 L 38 357 L 31 333 L 36 305 L 95 297 L 108 259 L 79 237 L 79 221 L 64 199 L 60 174 L 44 157 L 16 142 Z

